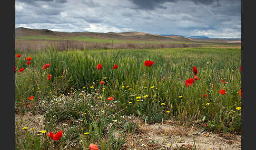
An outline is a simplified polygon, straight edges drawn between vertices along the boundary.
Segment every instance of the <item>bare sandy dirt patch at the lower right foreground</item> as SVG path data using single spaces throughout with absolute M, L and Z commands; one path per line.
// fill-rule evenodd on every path
M 241 149 L 241 135 L 191 130 L 171 121 L 153 125 L 141 122 L 139 131 L 127 139 L 127 149 L 193 149 L 194 139 L 196 149 Z

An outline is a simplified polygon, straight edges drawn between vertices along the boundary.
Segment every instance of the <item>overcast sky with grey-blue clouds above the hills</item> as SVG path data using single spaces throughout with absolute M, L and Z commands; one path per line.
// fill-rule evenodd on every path
M 16 0 L 15 27 L 241 38 L 241 0 Z

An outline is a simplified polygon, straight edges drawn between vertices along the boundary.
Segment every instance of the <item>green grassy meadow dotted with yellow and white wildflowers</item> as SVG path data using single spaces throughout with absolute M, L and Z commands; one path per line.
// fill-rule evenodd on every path
M 241 132 L 241 48 L 15 52 L 15 111 L 44 115 L 42 131 L 16 122 L 16 149 L 126 149 L 131 117 Z

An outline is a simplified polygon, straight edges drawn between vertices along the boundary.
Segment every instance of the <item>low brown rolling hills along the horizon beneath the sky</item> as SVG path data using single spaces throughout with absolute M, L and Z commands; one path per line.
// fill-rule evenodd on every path
M 119 40 L 141 40 L 141 41 L 168 41 L 168 42 L 233 42 L 238 41 L 238 39 L 227 40 L 227 39 L 211 39 L 208 37 L 184 37 L 180 35 L 155 35 L 142 33 L 137 31 L 129 31 L 122 33 L 95 33 L 95 32 L 62 32 L 62 31 L 52 31 L 48 29 L 29 29 L 29 28 L 15 28 L 15 38 L 22 37 L 38 37 L 46 36 L 49 38 L 71 38 L 71 37 L 91 37 L 91 38 L 101 38 L 101 39 L 119 39 Z M 241 42 L 241 40 L 240 40 Z

